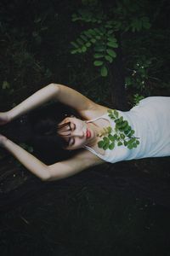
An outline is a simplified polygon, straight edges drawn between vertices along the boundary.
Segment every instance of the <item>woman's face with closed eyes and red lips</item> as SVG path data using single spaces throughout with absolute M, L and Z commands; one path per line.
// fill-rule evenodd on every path
M 60 124 L 68 122 L 70 122 L 70 125 L 59 131 L 59 135 L 65 137 L 65 140 L 69 143 L 65 149 L 74 150 L 89 143 L 94 143 L 95 131 L 85 121 L 75 117 L 67 117 Z

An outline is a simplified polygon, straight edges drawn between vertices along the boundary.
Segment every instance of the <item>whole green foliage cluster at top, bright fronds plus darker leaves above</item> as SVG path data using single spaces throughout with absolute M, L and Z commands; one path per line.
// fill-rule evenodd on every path
M 94 66 L 100 75 L 107 77 L 111 63 L 116 58 L 116 32 L 139 32 L 150 28 L 150 20 L 141 11 L 141 3 L 136 1 L 117 1 L 116 7 L 108 14 L 100 8 L 99 1 L 82 1 L 86 5 L 72 15 L 72 21 L 90 23 L 90 28 L 83 30 L 79 37 L 71 42 L 71 54 L 84 54 L 93 48 Z

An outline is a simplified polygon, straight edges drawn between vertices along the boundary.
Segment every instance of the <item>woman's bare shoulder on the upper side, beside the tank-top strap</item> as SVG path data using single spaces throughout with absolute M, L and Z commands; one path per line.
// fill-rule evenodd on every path
M 88 120 L 88 119 L 98 118 L 99 116 L 107 113 L 109 109 L 110 108 L 107 108 L 105 106 L 102 106 L 93 102 L 93 104 L 89 108 L 79 111 L 79 113 L 83 119 Z

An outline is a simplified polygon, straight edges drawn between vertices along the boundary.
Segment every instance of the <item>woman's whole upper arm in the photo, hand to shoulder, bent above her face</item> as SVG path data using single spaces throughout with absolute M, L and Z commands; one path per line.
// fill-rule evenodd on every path
M 48 84 L 42 89 L 37 90 L 37 92 L 29 96 L 16 107 L 7 112 L 0 113 L 0 125 L 18 118 L 20 115 L 27 113 L 50 100 L 57 100 L 58 102 L 76 109 L 84 119 L 89 118 L 89 113 L 96 114 L 98 109 L 100 110 L 99 113 L 101 113 L 100 108 L 105 108 L 68 86 L 63 84 Z M 92 117 L 90 116 L 90 118 Z

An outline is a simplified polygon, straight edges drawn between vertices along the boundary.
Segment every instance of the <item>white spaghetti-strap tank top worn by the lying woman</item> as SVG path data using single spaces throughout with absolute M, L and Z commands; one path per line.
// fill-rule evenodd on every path
M 134 137 L 138 137 L 137 148 L 128 149 L 124 145 L 105 150 L 105 155 L 97 153 L 94 148 L 84 146 L 100 159 L 115 163 L 122 160 L 133 160 L 147 157 L 170 156 L 170 97 L 150 96 L 139 102 L 127 112 L 117 110 L 119 116 L 127 120 L 135 131 Z M 115 121 L 108 113 L 95 119 L 86 121 L 93 122 L 97 119 L 108 119 L 111 122 L 112 134 L 114 134 Z

